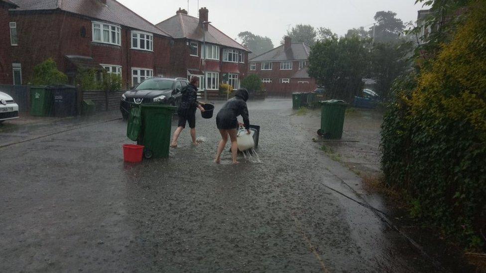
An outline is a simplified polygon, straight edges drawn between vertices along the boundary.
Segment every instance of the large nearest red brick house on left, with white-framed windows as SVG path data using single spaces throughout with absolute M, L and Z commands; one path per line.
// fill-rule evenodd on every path
M 125 87 L 172 76 L 171 36 L 116 0 L 14 1 L 18 7 L 9 10 L 9 21 L 18 44 L 11 46 L 12 63 L 21 77 L 13 84 L 27 84 L 33 67 L 47 58 L 71 84 L 85 68 L 121 75 Z

